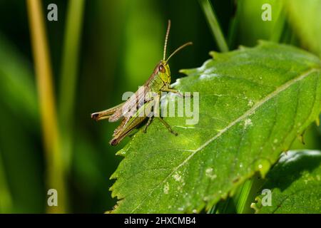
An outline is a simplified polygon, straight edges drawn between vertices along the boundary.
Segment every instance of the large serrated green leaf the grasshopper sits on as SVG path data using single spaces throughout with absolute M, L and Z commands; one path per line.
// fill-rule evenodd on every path
M 265 175 L 321 110 L 320 59 L 300 49 L 260 42 L 214 53 L 184 70 L 175 88 L 197 91 L 199 122 L 164 118 L 118 152 L 125 158 L 111 178 L 113 212 L 200 212 L 255 172 Z M 170 94 L 167 99 L 174 99 Z

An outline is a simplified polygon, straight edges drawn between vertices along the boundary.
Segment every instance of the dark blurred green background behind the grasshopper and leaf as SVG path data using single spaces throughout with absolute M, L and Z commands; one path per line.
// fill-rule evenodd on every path
M 163 56 L 168 19 L 168 53 L 186 41 L 194 43 L 171 58 L 173 81 L 183 76 L 180 68 L 198 67 L 209 51 L 219 50 L 196 0 L 76 1 L 41 1 L 61 137 L 58 162 L 67 196 L 66 209 L 57 212 L 102 213 L 116 203 L 108 191 L 113 183 L 109 177 L 121 160 L 115 152 L 128 139 L 111 147 L 108 141 L 117 123 L 96 123 L 90 114 L 121 103 L 123 92 L 146 81 Z M 239 1 L 238 7 L 233 0 L 211 2 L 230 49 L 254 46 L 259 38 L 275 34 L 281 9 L 277 1 L 264 1 L 276 9 L 274 20 L 266 22 L 260 20 L 263 1 Z M 46 20 L 51 3 L 58 6 L 58 21 Z M 0 0 L 0 213 L 48 212 L 49 157 L 26 4 Z M 280 37 L 276 41 L 299 43 L 290 26 Z M 295 146 L 321 148 L 316 127 L 308 131 L 306 142 Z M 51 172 L 55 176 L 56 170 Z

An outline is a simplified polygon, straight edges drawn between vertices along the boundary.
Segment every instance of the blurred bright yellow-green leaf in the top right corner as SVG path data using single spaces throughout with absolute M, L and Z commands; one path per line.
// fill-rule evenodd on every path
M 287 0 L 287 9 L 302 45 L 321 55 L 321 1 Z

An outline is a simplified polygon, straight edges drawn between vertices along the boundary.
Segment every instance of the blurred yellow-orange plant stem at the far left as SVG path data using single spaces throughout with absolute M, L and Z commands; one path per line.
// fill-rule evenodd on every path
M 66 211 L 66 191 L 63 180 L 64 172 L 56 118 L 51 61 L 44 26 L 44 18 L 46 17 L 44 17 L 42 12 L 40 0 L 27 0 L 26 5 L 31 30 L 39 106 L 41 109 L 44 149 L 46 151 L 47 187 L 48 189 L 55 189 L 58 192 L 58 207 L 48 207 L 48 212 L 63 213 Z

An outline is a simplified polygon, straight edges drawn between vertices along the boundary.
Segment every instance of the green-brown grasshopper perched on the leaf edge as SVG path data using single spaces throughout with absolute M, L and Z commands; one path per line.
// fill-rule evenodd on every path
M 146 133 L 148 125 L 151 124 L 153 117 L 157 117 L 161 120 L 161 123 L 165 125 L 165 127 L 173 133 L 173 135 L 178 135 L 170 125 L 163 120 L 163 118 L 151 115 L 152 111 L 155 107 L 153 107 L 155 100 L 154 96 L 147 96 L 146 93 L 153 93 L 156 94 L 156 97 L 159 99 L 159 96 L 162 92 L 171 92 L 171 93 L 178 93 L 178 95 L 182 95 L 170 87 L 170 68 L 168 66 L 168 60 L 175 55 L 178 51 L 185 46 L 189 46 L 193 44 L 192 42 L 188 42 L 183 44 L 182 46 L 178 47 L 170 56 L 165 59 L 166 57 L 166 47 L 168 43 L 168 35 L 170 32 L 170 21 L 168 21 L 168 27 L 165 36 L 165 44 L 164 44 L 164 51 L 163 51 L 163 59 L 156 65 L 153 73 L 148 78 L 148 81 L 140 88 L 136 93 L 134 93 L 131 98 L 129 98 L 126 102 L 116 105 L 113 108 L 109 108 L 107 110 L 103 110 L 98 113 L 91 114 L 91 118 L 94 120 L 103 120 L 108 119 L 109 122 L 116 122 L 117 120 L 121 120 L 121 125 L 116 128 L 113 132 L 113 139 L 109 142 L 111 145 L 117 145 L 123 138 L 125 138 L 133 129 L 135 129 L 138 125 L 141 125 L 146 118 L 148 118 L 148 122 L 143 129 L 143 132 Z M 133 109 L 134 107 L 134 109 Z M 146 113 L 146 110 L 147 113 Z

